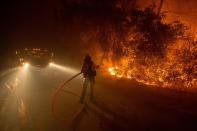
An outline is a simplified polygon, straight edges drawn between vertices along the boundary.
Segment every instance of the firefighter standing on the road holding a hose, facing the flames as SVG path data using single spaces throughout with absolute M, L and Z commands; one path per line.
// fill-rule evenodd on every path
M 83 90 L 81 94 L 80 103 L 83 103 L 84 97 L 86 94 L 86 89 L 88 87 L 88 84 L 90 84 L 90 100 L 93 100 L 93 88 L 94 88 L 94 81 L 96 76 L 96 68 L 98 66 L 95 66 L 94 62 L 92 61 L 91 57 L 87 54 L 84 63 L 81 69 L 81 72 L 83 73 L 83 76 L 85 78 L 83 83 Z

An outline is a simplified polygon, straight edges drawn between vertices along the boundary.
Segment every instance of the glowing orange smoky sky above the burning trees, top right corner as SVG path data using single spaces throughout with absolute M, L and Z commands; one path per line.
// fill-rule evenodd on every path
M 152 3 L 156 4 L 156 12 L 161 0 L 137 0 L 138 8 L 145 8 Z M 163 0 L 161 12 L 168 12 L 167 21 L 181 20 L 190 26 L 193 31 L 197 29 L 197 1 L 196 0 Z

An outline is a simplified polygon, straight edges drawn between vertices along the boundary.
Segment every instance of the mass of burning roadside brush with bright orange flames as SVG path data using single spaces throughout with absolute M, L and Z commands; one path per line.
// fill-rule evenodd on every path
M 143 21 L 140 15 L 138 19 L 135 19 L 136 15 L 131 17 L 139 22 L 136 22 L 135 29 L 131 27 L 123 40 L 114 36 L 115 42 L 112 42 L 113 48 L 109 52 L 112 60 L 106 63 L 108 72 L 115 78 L 134 79 L 147 85 L 181 90 L 196 88 L 195 34 L 180 21 L 166 24 L 158 19 L 152 20 L 151 26 L 147 28 L 150 24 L 143 22 L 149 21 L 149 17 L 146 17 L 149 13 L 144 13 Z M 119 44 L 116 44 L 116 41 L 119 41 Z

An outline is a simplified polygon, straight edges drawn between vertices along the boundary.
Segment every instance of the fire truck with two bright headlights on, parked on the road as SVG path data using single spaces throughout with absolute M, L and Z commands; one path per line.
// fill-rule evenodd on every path
M 54 64 L 52 50 L 41 48 L 24 48 L 16 51 L 20 65 L 24 67 L 34 66 L 44 68 Z

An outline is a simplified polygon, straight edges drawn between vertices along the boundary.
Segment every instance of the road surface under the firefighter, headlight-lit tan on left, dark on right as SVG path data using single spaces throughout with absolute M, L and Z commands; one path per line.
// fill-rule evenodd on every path
M 151 88 L 134 81 L 99 78 L 93 102 L 72 121 L 62 122 L 51 112 L 51 100 L 65 79 L 77 73 L 69 68 L 16 68 L 1 76 L 0 130 L 2 131 L 138 131 L 196 130 L 196 94 Z M 72 116 L 81 107 L 83 78 L 69 83 L 57 97 L 56 111 Z

